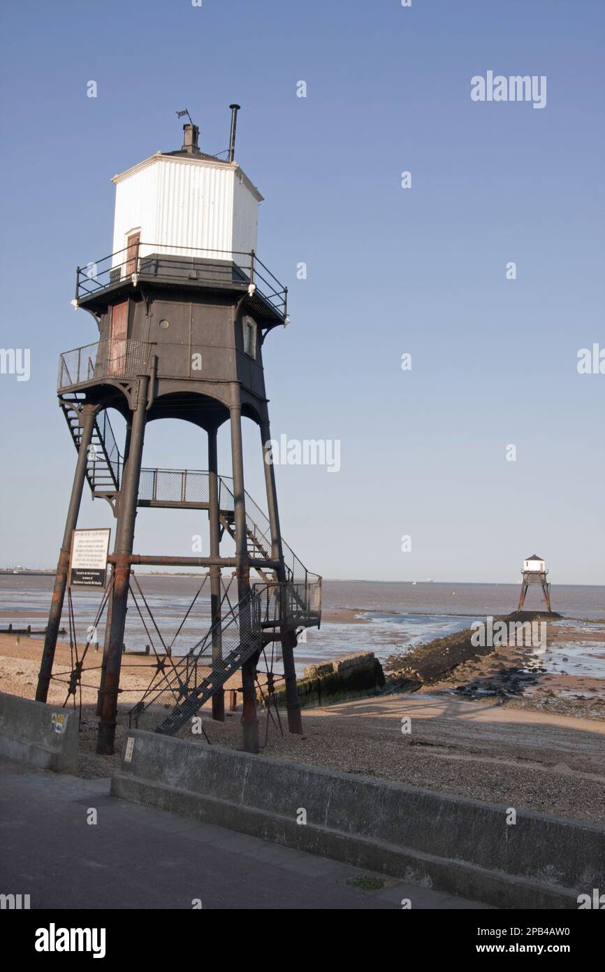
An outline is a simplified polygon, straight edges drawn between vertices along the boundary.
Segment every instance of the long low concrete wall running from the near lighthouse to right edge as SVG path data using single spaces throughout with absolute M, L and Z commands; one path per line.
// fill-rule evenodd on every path
M 128 734 L 112 794 L 497 908 L 605 887 L 605 827 L 153 733 Z

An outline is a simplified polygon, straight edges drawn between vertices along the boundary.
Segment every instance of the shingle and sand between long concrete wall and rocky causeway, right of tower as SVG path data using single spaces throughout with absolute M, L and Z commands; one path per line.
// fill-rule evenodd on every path
M 410 734 L 401 731 L 404 717 Z M 209 719 L 204 727 L 212 744 L 239 748 L 238 723 Z M 263 713 L 261 742 L 266 727 Z M 269 720 L 261 755 L 605 823 L 602 722 L 426 693 L 306 710 L 303 728 L 303 737 L 282 736 Z

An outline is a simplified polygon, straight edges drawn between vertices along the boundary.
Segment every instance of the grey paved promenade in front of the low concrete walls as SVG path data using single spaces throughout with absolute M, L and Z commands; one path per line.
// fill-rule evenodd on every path
M 88 808 L 97 811 L 88 824 Z M 116 800 L 109 779 L 82 780 L 0 759 L 0 893 L 33 909 L 392 909 L 482 906 L 151 807 Z

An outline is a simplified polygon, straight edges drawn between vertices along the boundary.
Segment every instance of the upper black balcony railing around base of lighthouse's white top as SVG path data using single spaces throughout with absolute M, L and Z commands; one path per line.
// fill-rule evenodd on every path
M 287 287 L 253 250 L 215 250 L 141 241 L 77 267 L 76 300 L 85 300 L 132 280 L 133 276 L 135 282 L 180 279 L 190 284 L 238 289 L 254 284 L 257 294 L 280 317 L 286 318 Z

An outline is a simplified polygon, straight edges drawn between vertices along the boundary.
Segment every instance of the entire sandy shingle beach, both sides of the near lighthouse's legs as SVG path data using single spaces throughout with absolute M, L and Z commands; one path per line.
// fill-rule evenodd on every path
M 349 622 L 354 610 L 344 608 L 336 616 Z M 605 658 L 605 625 L 591 625 L 589 636 Z M 586 640 L 582 624 L 550 626 L 549 645 L 560 650 L 559 672 L 540 667 L 527 672 L 526 649 L 497 648 L 412 694 L 387 692 L 305 710 L 302 738 L 282 735 L 285 712 L 280 720 L 275 712 L 259 712 L 261 755 L 603 823 L 605 679 L 574 674 L 573 664 L 580 663 L 569 662 L 573 645 L 586 648 Z M 41 639 L 0 636 L 3 691 L 34 697 L 42 645 Z M 95 753 L 100 664 L 101 652 L 89 652 L 82 687 L 83 777 L 108 776 L 118 766 L 127 712 L 155 667 L 152 657 L 123 657 L 117 752 L 106 757 Z M 51 705 L 65 703 L 69 670 L 69 648 L 58 646 Z M 236 676 L 226 687 L 239 686 Z M 200 745 L 241 746 L 240 712 L 227 712 L 224 723 L 212 720 L 209 705 L 202 715 L 206 736 L 192 737 Z M 409 735 L 401 731 L 407 716 Z M 182 731 L 189 733 L 189 727 Z

